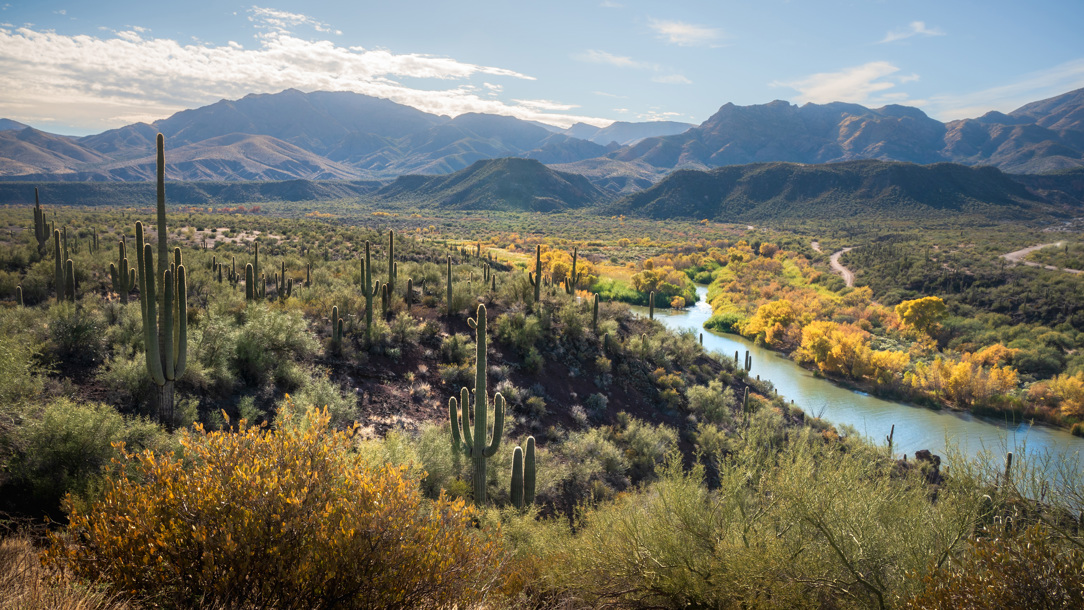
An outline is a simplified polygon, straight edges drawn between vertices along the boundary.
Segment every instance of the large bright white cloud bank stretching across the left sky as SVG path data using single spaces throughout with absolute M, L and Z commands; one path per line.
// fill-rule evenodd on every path
M 185 44 L 146 37 L 136 28 L 99 36 L 0 28 L 0 80 L 22 83 L 0 88 L 0 116 L 24 121 L 63 117 L 60 122 L 93 132 L 126 125 L 133 117 L 154 120 L 221 99 L 296 88 L 354 91 L 441 115 L 490 113 L 564 127 L 578 121 L 608 122 L 555 114 L 562 104 L 550 103 L 553 106 L 547 109 L 538 101 L 490 99 L 486 91 L 493 91 L 492 87 L 440 85 L 481 75 L 534 80 L 515 70 L 305 40 L 280 29 L 312 25 L 313 20 L 305 15 L 270 10 L 254 10 L 253 15 L 269 24 L 254 48 L 232 41 Z M 403 77 L 431 79 L 437 87 L 411 88 L 396 80 Z

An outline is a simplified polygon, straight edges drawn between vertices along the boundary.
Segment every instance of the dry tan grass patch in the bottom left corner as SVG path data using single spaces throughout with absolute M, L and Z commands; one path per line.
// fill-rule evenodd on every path
M 26 533 L 0 537 L 0 608 L 12 610 L 131 610 L 132 603 L 41 566 Z

